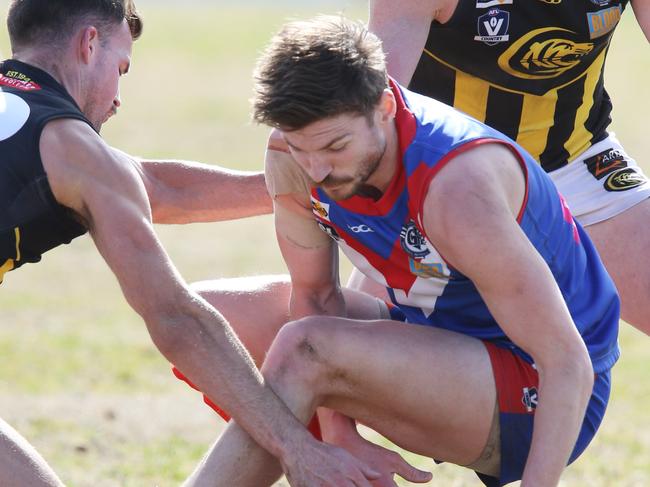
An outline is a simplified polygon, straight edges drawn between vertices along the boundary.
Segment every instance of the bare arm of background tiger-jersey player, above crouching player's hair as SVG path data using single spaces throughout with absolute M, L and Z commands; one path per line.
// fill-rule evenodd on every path
M 368 27 L 382 40 L 388 74 L 408 86 L 433 20 L 445 22 L 458 0 L 370 0 Z

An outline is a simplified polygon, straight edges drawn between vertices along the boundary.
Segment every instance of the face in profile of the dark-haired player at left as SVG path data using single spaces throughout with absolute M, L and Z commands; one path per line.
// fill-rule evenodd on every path
M 120 106 L 120 76 L 129 71 L 133 46 L 126 21 L 103 35 L 102 42 L 96 44 L 96 58 L 88 80 L 86 103 L 82 107 L 97 131 Z

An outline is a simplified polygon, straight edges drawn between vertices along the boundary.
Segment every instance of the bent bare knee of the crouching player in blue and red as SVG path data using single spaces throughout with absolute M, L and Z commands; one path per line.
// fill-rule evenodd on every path
M 324 361 L 318 340 L 318 317 L 303 318 L 282 327 L 271 345 L 262 372 L 274 382 L 318 384 Z

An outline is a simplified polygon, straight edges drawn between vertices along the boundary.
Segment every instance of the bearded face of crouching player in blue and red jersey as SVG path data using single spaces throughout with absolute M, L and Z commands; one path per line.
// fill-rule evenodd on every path
M 386 152 L 386 137 L 371 117 L 342 114 L 283 132 L 291 155 L 332 199 L 365 194 Z M 370 183 L 369 183 L 370 180 Z

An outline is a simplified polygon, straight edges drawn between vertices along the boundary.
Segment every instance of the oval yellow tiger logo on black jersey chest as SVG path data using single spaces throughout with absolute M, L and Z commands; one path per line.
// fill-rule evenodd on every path
M 499 56 L 505 72 L 524 79 L 555 78 L 578 66 L 594 49 L 567 29 L 544 27 L 522 36 Z

